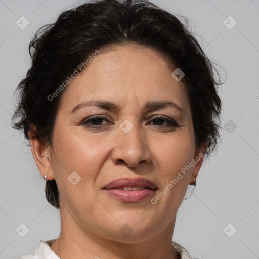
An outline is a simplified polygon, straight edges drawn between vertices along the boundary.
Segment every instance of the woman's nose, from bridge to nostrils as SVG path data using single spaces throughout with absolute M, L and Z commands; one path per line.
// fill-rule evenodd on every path
M 111 155 L 113 163 L 128 167 L 149 163 L 152 155 L 142 126 L 135 124 L 127 133 L 121 128 L 118 127 L 118 136 L 114 139 L 115 144 Z

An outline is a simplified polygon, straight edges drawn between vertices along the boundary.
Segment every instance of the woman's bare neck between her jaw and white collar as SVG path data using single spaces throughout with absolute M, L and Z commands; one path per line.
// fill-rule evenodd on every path
M 120 240 L 104 238 L 76 224 L 68 213 L 61 212 L 61 232 L 59 238 L 50 246 L 59 258 L 77 259 L 178 259 L 177 252 L 172 246 L 172 234 L 175 220 L 172 219 L 166 228 L 150 238 L 137 237 Z

